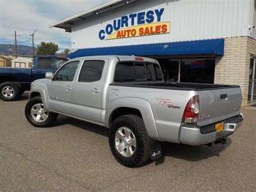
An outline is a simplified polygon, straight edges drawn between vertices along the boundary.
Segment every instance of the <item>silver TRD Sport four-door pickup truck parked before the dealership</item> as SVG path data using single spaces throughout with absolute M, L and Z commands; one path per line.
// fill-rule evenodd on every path
M 239 86 L 164 83 L 150 58 L 76 58 L 45 77 L 31 84 L 28 121 L 50 127 L 61 114 L 108 127 L 111 152 L 125 166 L 157 159 L 163 141 L 225 143 L 243 121 Z

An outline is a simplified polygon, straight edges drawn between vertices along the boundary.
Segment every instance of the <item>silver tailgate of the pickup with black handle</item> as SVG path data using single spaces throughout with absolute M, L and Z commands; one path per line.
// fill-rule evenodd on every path
M 200 98 L 198 125 L 214 124 L 239 115 L 242 101 L 240 87 L 202 90 L 198 93 Z

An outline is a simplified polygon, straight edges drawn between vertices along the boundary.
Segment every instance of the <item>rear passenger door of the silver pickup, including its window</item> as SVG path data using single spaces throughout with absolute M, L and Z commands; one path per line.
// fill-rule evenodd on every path
M 75 110 L 74 116 L 100 122 L 102 112 L 102 92 L 104 84 L 104 60 L 86 60 L 81 67 L 78 81 L 73 85 L 72 100 Z

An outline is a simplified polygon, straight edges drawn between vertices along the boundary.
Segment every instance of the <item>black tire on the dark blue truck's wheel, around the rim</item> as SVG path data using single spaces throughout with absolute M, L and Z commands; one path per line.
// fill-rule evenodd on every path
M 3 90 L 6 87 L 10 87 L 12 88 L 13 92 L 12 92 L 12 96 L 5 96 L 3 94 Z M 4 82 L 0 84 L 0 98 L 5 100 L 5 101 L 12 101 L 12 100 L 17 100 L 20 97 L 20 88 L 19 86 L 17 86 L 17 84 L 13 83 L 13 82 Z

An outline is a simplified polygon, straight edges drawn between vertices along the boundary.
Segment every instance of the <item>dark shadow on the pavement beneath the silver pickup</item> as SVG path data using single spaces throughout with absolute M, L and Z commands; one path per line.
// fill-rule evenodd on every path
M 76 120 L 68 116 L 60 115 L 54 127 L 59 127 L 61 125 L 73 125 L 79 129 L 84 129 L 84 131 L 90 131 L 108 138 L 108 128 L 83 122 L 81 120 Z M 184 159 L 185 161 L 201 161 L 210 157 L 220 156 L 220 153 L 225 150 L 231 143 L 232 140 L 230 138 L 227 138 L 227 143 L 225 145 L 212 144 L 212 147 L 207 145 L 189 146 L 179 143 L 161 143 L 163 155 L 161 158 L 155 161 L 155 164 L 156 166 L 163 164 L 165 157 Z M 152 163 L 152 161 L 148 162 L 148 164 L 150 163 Z

